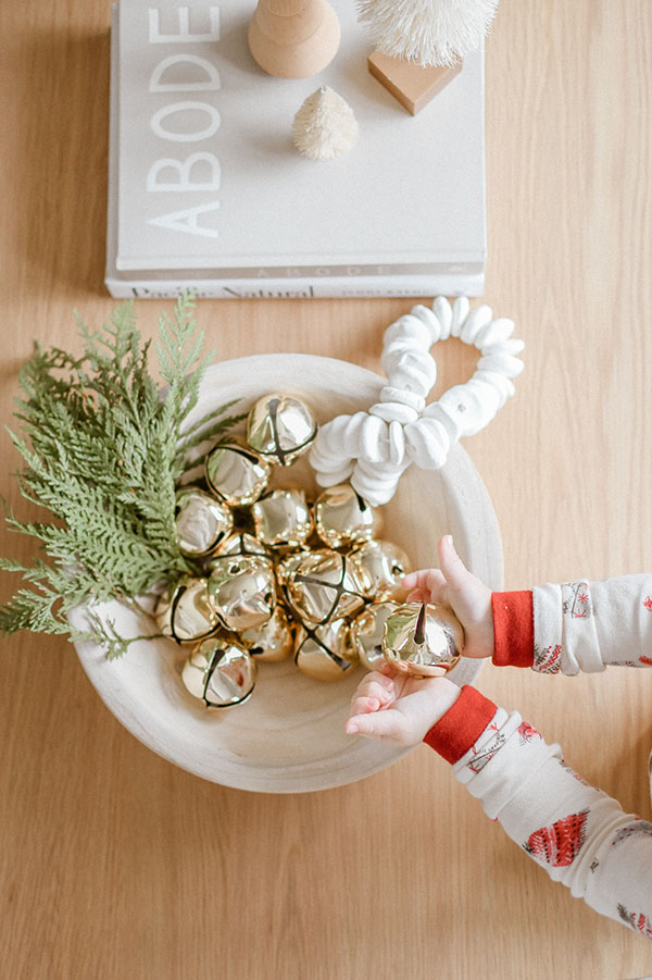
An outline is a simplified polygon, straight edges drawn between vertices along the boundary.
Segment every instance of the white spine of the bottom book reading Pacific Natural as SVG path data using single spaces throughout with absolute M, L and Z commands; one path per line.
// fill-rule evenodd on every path
M 198 299 L 325 299 L 391 296 L 481 296 L 482 273 L 419 276 L 340 276 L 317 280 L 122 280 L 108 275 L 115 299 L 175 299 L 192 289 Z

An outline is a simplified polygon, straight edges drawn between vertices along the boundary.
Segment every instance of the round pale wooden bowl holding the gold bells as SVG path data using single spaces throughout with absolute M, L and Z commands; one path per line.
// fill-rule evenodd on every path
M 366 409 L 384 380 L 333 358 L 262 355 L 210 368 L 190 422 L 233 398 L 242 408 L 280 390 L 309 402 L 319 422 L 340 412 Z M 302 459 L 275 471 L 277 483 L 315 487 Z M 467 566 L 491 588 L 502 586 L 502 547 L 487 491 L 466 452 L 453 447 L 442 470 L 412 466 L 394 498 L 383 508 L 383 537 L 400 544 L 413 567 L 436 563 L 438 538 L 450 532 Z M 118 603 L 102 607 L 122 635 L 152 630 Z M 83 609 L 73 616 L 85 624 Z M 326 684 L 304 677 L 292 660 L 261 663 L 255 690 L 240 706 L 206 710 L 185 690 L 180 668 L 187 656 L 172 641 L 138 641 L 120 660 L 109 661 L 92 643 L 76 644 L 82 665 L 106 707 L 137 739 L 190 772 L 241 790 L 300 793 L 325 790 L 371 776 L 410 749 L 376 744 L 344 733 L 349 703 L 363 668 Z M 471 682 L 480 661 L 461 660 L 450 677 Z

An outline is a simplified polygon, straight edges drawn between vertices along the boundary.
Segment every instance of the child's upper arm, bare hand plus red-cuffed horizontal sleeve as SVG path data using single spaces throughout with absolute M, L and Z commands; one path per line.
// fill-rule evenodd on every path
M 493 593 L 473 575 L 452 539 L 439 543 L 439 569 L 404 579 L 410 598 L 452 607 L 467 657 L 499 666 L 576 674 L 607 665 L 652 666 L 652 575 L 623 575 Z

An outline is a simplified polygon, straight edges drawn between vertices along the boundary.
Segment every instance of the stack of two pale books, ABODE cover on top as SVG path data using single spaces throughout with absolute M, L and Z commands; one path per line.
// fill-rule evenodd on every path
M 479 295 L 486 262 L 484 53 L 416 116 L 368 72 L 353 0 L 305 79 L 266 75 L 255 0 L 120 0 L 112 30 L 106 285 L 114 296 Z M 312 161 L 293 116 L 322 85 L 351 151 Z

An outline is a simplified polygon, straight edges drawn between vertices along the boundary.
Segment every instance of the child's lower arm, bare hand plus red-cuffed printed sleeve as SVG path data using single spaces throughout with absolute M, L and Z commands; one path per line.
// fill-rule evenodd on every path
M 581 780 L 518 712 L 446 678 L 406 681 L 384 668 L 361 682 L 347 731 L 423 739 L 552 879 L 652 939 L 652 824 Z

